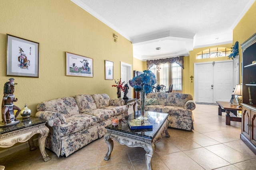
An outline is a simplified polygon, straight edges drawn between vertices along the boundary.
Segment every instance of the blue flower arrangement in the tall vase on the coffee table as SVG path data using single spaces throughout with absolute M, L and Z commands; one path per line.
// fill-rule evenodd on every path
M 129 84 L 135 91 L 140 92 L 142 90 L 148 94 L 151 92 L 151 86 L 156 84 L 156 76 L 152 71 L 144 70 L 143 74 L 129 80 Z

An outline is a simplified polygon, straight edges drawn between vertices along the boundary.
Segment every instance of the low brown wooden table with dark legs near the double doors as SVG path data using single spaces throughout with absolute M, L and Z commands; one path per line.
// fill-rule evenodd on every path
M 237 111 L 241 111 L 242 108 L 239 105 L 230 105 L 230 102 L 216 101 L 219 105 L 218 115 L 222 115 L 222 112 L 226 111 L 226 125 L 230 125 L 230 121 L 240 121 L 241 117 L 237 117 Z M 231 112 L 231 113 L 230 113 Z

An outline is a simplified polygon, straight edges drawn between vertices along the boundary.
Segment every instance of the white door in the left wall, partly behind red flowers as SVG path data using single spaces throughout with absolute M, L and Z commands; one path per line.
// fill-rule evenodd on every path
M 132 88 L 129 84 L 129 80 L 132 79 L 132 65 L 131 64 L 127 64 L 127 63 L 123 63 L 121 62 L 121 79 L 122 82 L 125 82 L 129 85 L 129 90 L 128 90 L 128 98 L 132 98 Z M 121 98 L 124 97 L 124 93 L 121 93 Z

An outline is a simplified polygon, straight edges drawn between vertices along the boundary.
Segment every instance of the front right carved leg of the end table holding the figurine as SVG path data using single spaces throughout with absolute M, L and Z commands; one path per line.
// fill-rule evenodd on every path
M 40 129 L 40 134 L 38 136 L 38 146 L 44 158 L 44 162 L 51 160 L 51 158 L 48 156 L 48 154 L 45 151 L 45 140 L 46 140 L 46 137 L 48 136 L 48 133 L 49 133 L 48 127 L 43 127 Z

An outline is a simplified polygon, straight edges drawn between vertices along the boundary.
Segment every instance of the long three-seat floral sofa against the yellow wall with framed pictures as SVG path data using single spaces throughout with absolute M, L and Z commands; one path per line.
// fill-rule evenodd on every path
M 122 99 L 107 94 L 82 94 L 38 104 L 36 117 L 47 120 L 50 132 L 46 148 L 57 156 L 68 156 L 105 134 L 112 118 L 128 115 Z

